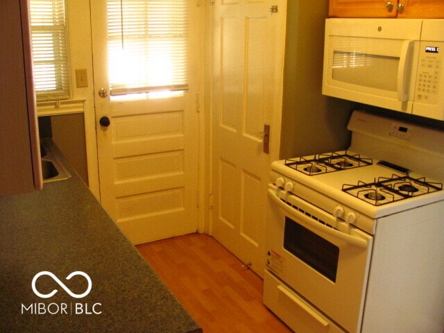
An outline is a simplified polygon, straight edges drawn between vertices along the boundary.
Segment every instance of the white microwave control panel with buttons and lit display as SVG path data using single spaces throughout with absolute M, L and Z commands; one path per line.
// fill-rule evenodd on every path
M 434 105 L 438 103 L 438 89 L 442 84 L 444 43 L 421 42 L 420 48 L 416 101 Z

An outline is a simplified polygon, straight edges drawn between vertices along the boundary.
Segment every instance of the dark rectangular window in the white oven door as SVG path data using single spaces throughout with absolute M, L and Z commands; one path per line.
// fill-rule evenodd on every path
M 336 282 L 339 248 L 288 217 L 285 217 L 284 248 Z

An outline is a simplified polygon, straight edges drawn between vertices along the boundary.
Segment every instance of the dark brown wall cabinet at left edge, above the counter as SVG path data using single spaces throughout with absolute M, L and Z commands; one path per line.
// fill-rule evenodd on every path
M 42 188 L 28 2 L 0 1 L 0 196 Z

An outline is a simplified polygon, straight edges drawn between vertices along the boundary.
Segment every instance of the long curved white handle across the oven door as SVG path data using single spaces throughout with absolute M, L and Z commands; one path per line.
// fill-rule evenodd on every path
M 341 232 L 339 230 L 327 227 L 321 223 L 318 223 L 316 221 L 312 221 L 308 216 L 305 216 L 301 212 L 298 212 L 298 210 L 295 210 L 293 207 L 287 205 L 287 203 L 284 203 L 278 196 L 276 196 L 271 189 L 268 189 L 268 196 L 273 200 L 274 203 L 276 203 L 282 210 L 285 212 L 293 215 L 298 216 L 298 218 L 307 225 L 310 225 L 312 228 L 315 228 L 317 230 L 320 230 L 322 232 L 325 232 L 326 234 L 330 234 L 330 236 L 335 237 L 337 239 L 341 239 L 342 241 L 346 241 L 348 244 L 352 244 L 354 246 L 357 246 L 359 248 L 367 248 L 368 243 L 366 240 L 354 237 L 350 234 L 345 234 L 344 232 Z

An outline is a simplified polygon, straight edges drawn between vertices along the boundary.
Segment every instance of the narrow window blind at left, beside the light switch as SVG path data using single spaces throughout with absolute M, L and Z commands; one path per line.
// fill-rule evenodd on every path
M 69 98 L 64 0 L 30 0 L 37 101 Z

